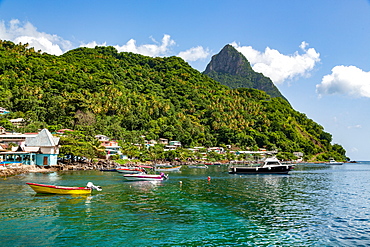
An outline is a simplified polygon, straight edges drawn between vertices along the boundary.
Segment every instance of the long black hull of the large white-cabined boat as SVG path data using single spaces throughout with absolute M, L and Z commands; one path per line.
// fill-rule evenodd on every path
M 293 169 L 291 165 L 274 167 L 238 167 L 229 169 L 230 174 L 288 174 Z

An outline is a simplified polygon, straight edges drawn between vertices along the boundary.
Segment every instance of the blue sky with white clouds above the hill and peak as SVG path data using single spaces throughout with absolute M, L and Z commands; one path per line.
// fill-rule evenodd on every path
M 370 160 L 370 0 L 0 0 L 0 39 L 179 56 L 233 45 L 351 160 Z

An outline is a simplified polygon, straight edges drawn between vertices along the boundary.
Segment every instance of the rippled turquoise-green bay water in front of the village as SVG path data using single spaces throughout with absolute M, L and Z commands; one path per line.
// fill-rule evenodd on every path
M 368 162 L 297 165 L 289 175 L 183 167 L 169 176 L 156 183 L 100 171 L 1 178 L 0 246 L 370 245 Z M 88 181 L 103 191 L 36 195 L 25 184 Z

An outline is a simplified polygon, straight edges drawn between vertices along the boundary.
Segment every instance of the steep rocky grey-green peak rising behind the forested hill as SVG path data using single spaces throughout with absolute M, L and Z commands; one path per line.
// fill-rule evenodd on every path
M 271 79 L 255 72 L 243 54 L 231 45 L 214 55 L 203 73 L 230 88 L 254 88 L 285 99 Z

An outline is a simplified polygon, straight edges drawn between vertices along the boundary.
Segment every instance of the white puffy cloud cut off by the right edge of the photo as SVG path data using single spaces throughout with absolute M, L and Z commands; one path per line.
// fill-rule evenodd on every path
M 330 75 L 325 75 L 316 92 L 323 94 L 345 94 L 354 97 L 370 98 L 370 72 L 356 66 L 335 66 Z

